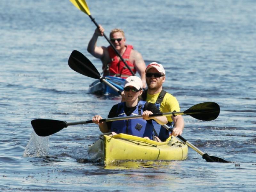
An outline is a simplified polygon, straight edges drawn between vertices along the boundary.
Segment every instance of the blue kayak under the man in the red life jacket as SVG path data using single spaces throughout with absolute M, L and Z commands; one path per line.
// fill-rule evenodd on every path
M 113 76 L 105 76 L 105 79 L 114 85 L 117 89 L 123 91 L 125 79 Z M 119 93 L 114 91 L 111 87 L 101 83 L 99 79 L 95 80 L 92 84 L 89 85 L 88 93 L 99 95 L 119 95 Z

